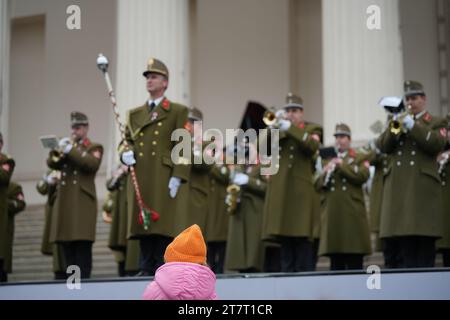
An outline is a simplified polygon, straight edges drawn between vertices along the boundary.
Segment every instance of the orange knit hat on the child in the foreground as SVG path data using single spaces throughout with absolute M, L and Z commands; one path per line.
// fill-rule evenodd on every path
M 200 227 L 194 224 L 173 239 L 166 248 L 164 260 L 166 262 L 206 263 L 206 244 Z

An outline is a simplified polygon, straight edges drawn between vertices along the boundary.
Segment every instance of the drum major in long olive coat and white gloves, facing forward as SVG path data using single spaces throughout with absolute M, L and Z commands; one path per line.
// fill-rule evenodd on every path
M 135 189 L 129 182 L 128 234 L 140 240 L 140 276 L 153 275 L 164 263 L 164 251 L 177 234 L 174 221 L 177 216 L 176 195 L 190 172 L 187 165 L 190 159 L 185 155 L 176 161 L 171 158 L 171 151 L 177 143 L 171 141 L 172 132 L 185 127 L 188 108 L 165 97 L 169 71 L 163 62 L 150 59 L 143 76 L 150 97 L 143 106 L 128 112 L 126 132 L 130 150 L 121 155 L 123 163 L 134 166 L 144 203 L 159 214 L 159 220 L 151 221 L 147 230 L 138 223 L 140 210 Z

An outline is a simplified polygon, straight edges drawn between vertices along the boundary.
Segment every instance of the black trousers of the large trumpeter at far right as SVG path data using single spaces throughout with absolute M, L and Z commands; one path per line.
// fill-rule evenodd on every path
M 436 258 L 436 239 L 426 236 L 398 237 L 402 268 L 432 268 Z

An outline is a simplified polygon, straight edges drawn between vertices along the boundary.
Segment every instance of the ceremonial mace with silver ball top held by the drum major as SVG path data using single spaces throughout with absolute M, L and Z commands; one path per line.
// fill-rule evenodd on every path
M 120 121 L 120 114 L 117 110 L 116 96 L 111 85 L 111 79 L 109 78 L 108 66 L 108 59 L 100 53 L 97 58 L 97 67 L 103 72 L 103 76 L 105 77 L 106 88 L 108 89 L 109 98 L 113 107 L 114 117 L 116 120 L 116 124 L 119 126 L 120 136 L 122 138 L 124 147 L 126 150 L 130 150 L 129 144 L 125 137 L 125 125 Z M 139 206 L 139 224 L 143 224 L 144 229 L 147 230 L 148 226 L 150 225 L 150 219 L 152 221 L 157 221 L 159 219 L 159 214 L 144 203 L 144 199 L 142 199 L 141 189 L 139 188 L 139 184 L 136 178 L 136 171 L 134 170 L 133 166 L 129 166 L 129 169 L 131 172 L 131 181 L 133 182 L 133 187 L 136 194 L 136 201 Z

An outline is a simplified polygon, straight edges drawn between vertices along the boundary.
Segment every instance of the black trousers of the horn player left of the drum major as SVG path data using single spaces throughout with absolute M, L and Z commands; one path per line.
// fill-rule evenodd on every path
M 66 270 L 68 266 L 76 265 L 80 268 L 81 278 L 88 279 L 92 271 L 92 241 L 61 242 Z M 69 275 L 70 276 L 70 275 Z

